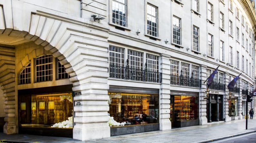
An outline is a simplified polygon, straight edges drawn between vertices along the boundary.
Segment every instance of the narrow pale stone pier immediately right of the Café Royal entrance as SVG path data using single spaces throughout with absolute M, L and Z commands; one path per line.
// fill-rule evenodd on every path
M 229 83 L 229 73 L 228 72 L 224 72 L 224 84 L 227 86 Z M 228 88 L 225 88 L 225 92 L 224 92 L 224 98 L 223 98 L 223 102 L 224 102 L 224 119 L 225 122 L 229 122 L 231 121 L 231 117 L 228 115 L 229 113 L 229 107 L 228 107 Z

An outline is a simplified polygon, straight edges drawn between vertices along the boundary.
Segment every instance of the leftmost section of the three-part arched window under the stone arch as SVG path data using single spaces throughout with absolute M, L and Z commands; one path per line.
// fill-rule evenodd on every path
M 31 83 L 31 63 L 20 73 L 20 84 Z

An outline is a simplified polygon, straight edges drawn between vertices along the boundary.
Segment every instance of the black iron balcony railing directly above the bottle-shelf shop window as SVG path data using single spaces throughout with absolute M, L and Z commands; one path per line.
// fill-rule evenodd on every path
M 192 76 L 193 77 L 193 76 Z M 190 77 L 170 75 L 170 81 L 173 85 L 189 86 L 189 87 L 201 87 L 201 79 L 194 79 Z

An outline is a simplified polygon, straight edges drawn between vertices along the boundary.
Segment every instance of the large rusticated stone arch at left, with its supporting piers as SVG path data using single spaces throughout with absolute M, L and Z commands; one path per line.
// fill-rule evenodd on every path
M 20 6 L 19 8 L 13 8 Z M 34 41 L 61 61 L 71 76 L 72 90 L 78 94 L 74 101 L 75 126 L 73 138 L 98 139 L 110 136 L 108 106 L 108 29 L 93 27 L 81 21 L 51 14 L 37 13 L 37 7 L 27 9 L 18 0 L 0 2 L 0 42 L 3 37 L 13 37 L 9 44 Z M 17 133 L 17 97 L 15 97 L 15 49 L 7 55 L 0 51 L 0 84 L 5 97 L 5 133 Z M 12 51 L 14 50 L 14 51 Z M 22 69 L 37 51 L 27 54 L 18 63 Z M 12 59 L 12 60 L 5 60 Z M 97 66 L 96 66 L 97 65 Z M 8 68 L 7 68 L 8 67 Z M 11 68 L 9 68 L 11 67 Z M 14 68 L 13 68 L 14 67 Z M 8 76 L 8 78 L 6 78 Z

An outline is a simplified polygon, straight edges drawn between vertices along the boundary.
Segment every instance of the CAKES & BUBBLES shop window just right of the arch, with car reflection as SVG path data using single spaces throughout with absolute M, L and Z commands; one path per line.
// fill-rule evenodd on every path
M 109 99 L 109 116 L 113 122 L 125 126 L 159 123 L 159 95 L 109 93 Z M 109 121 L 109 125 L 115 126 L 113 122 Z

